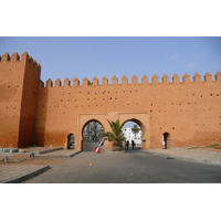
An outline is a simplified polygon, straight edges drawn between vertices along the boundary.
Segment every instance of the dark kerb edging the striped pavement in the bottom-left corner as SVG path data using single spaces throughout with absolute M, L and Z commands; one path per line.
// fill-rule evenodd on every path
M 12 178 L 12 179 L 8 179 L 7 181 L 3 181 L 2 183 L 20 183 L 24 180 L 28 180 L 28 179 L 31 179 L 46 170 L 51 169 L 50 165 L 46 165 L 46 166 L 43 166 L 34 171 L 31 171 L 27 175 L 22 175 L 20 177 L 15 177 L 15 178 Z

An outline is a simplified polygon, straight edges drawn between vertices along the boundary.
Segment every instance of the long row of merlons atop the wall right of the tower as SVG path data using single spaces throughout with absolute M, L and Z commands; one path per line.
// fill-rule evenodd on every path
M 185 74 L 182 76 L 182 81 L 180 81 L 180 76 L 178 74 L 173 74 L 173 76 L 171 77 L 171 82 L 169 82 L 169 76 L 167 74 L 164 74 L 164 76 L 161 77 L 161 82 L 159 82 L 159 77 L 154 74 L 151 77 L 151 82 L 148 81 L 148 76 L 144 75 L 141 77 L 141 83 L 138 83 L 138 77 L 136 75 L 134 75 L 131 77 L 131 83 L 128 83 L 128 77 L 126 75 L 124 75 L 122 77 L 122 84 L 118 83 L 118 77 L 117 76 L 113 76 L 112 77 L 112 84 L 108 84 L 108 78 L 106 76 L 104 76 L 102 78 L 102 84 L 99 84 L 98 78 L 95 76 L 92 82 L 88 81 L 87 77 L 84 77 L 82 81 L 82 85 L 80 84 L 80 80 L 77 77 L 73 78 L 72 82 L 69 78 L 65 78 L 62 81 L 60 78 L 55 80 L 55 82 L 53 82 L 51 78 L 49 78 L 46 81 L 46 83 L 44 84 L 42 82 L 42 87 L 57 87 L 57 86 L 97 86 L 97 85 L 158 85 L 158 84 L 183 84 L 183 83 L 200 83 L 200 82 L 204 82 L 204 83 L 209 83 L 209 82 L 219 82 L 221 83 L 221 72 L 217 72 L 217 74 L 214 75 L 214 81 L 212 80 L 212 74 L 210 74 L 209 72 L 207 72 L 203 76 L 203 81 L 202 81 L 202 76 L 199 73 L 196 73 L 192 77 L 192 82 L 190 81 L 190 75 L 189 74 Z

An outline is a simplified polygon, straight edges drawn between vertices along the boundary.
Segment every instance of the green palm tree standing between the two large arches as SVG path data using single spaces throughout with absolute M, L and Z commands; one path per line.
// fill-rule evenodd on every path
M 123 150 L 123 141 L 125 140 L 124 134 L 122 133 L 122 128 L 124 124 L 120 124 L 117 119 L 116 122 L 109 122 L 109 126 L 112 131 L 102 131 L 98 134 L 98 137 L 104 137 L 105 140 L 113 141 L 113 150 L 120 151 Z

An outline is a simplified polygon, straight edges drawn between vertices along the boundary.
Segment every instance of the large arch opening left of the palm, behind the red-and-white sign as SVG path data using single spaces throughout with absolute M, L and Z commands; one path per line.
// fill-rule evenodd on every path
M 98 134 L 104 131 L 104 127 L 97 120 L 90 120 L 85 124 L 82 130 L 83 135 L 83 151 L 94 151 L 94 148 L 98 145 Z

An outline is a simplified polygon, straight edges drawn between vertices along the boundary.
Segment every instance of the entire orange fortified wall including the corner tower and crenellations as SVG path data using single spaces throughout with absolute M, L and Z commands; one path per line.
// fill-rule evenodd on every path
M 210 73 L 196 73 L 192 81 L 188 74 L 175 74 L 170 82 L 164 74 L 161 81 L 144 75 L 141 82 L 134 75 L 131 83 L 127 76 L 120 83 L 116 76 L 101 83 L 94 77 L 91 85 L 86 77 L 82 84 L 77 77 L 43 83 L 41 66 L 28 53 L 21 60 L 7 56 L 0 62 L 0 146 L 13 140 L 14 147 L 66 148 L 73 134 L 76 149 L 82 149 L 84 126 L 97 120 L 108 130 L 106 119 L 137 123 L 143 149 L 161 148 L 165 133 L 167 148 L 221 144 L 221 72 L 214 80 Z

